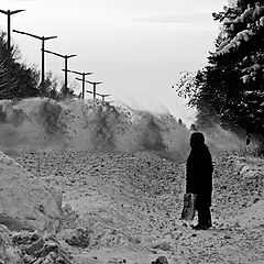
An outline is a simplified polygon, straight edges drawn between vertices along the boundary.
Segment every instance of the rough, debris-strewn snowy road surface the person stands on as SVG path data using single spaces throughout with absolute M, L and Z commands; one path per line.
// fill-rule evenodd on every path
M 150 152 L 10 155 L 63 193 L 58 239 L 75 263 L 264 263 L 262 160 L 215 155 L 213 228 L 194 231 L 178 220 L 185 164 Z M 70 245 L 80 227 L 89 239 Z

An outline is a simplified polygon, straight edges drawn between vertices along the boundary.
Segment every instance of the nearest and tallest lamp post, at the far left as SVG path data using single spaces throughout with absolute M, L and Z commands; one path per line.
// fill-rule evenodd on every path
M 24 9 L 6 11 L 0 9 L 0 13 L 8 15 L 8 84 L 7 84 L 7 99 L 10 97 L 11 92 L 11 15 L 25 11 Z

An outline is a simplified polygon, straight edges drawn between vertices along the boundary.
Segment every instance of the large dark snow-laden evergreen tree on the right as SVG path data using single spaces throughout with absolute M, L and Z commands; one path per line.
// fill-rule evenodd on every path
M 221 31 L 189 102 L 200 117 L 264 134 L 264 1 L 232 1 L 212 15 Z

